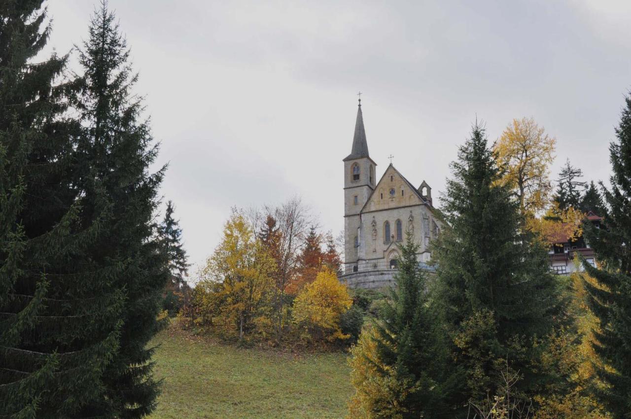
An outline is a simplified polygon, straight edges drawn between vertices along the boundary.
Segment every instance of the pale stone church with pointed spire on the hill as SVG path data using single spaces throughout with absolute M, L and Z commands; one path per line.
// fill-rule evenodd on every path
M 344 256 L 340 280 L 356 288 L 392 283 L 400 256 L 398 245 L 410 232 L 420 245 L 417 259 L 431 270 L 429 244 L 440 232 L 432 205 L 432 188 L 415 187 L 390 163 L 377 182 L 377 163 L 370 158 L 359 100 L 350 155 L 344 162 Z

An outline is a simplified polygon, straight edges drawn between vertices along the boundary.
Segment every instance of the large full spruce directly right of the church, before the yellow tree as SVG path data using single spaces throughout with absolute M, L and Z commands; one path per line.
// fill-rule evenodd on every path
M 446 225 L 432 252 L 433 302 L 452 339 L 455 365 L 445 368 L 463 374 L 450 398 L 466 406 L 497 394 L 506 360 L 523 375 L 522 390 L 536 386 L 533 341 L 550 330 L 557 287 L 546 250 L 523 233 L 519 202 L 497 181 L 483 127 L 473 127 L 451 167 L 442 199 Z M 466 416 L 463 409 L 450 417 Z

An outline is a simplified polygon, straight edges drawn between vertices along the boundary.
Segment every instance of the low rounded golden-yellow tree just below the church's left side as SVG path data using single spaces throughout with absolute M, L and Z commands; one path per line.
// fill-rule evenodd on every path
M 336 273 L 324 268 L 305 285 L 293 302 L 293 319 L 310 339 L 347 339 L 339 328 L 339 317 L 350 309 L 353 299 Z

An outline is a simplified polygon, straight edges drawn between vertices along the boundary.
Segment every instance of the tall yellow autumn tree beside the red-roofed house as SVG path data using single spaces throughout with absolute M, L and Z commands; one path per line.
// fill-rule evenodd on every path
M 548 204 L 552 188 L 549 166 L 556 142 L 533 118 L 522 118 L 514 119 L 495 143 L 498 166 L 505 171 L 502 182 L 514 188 L 523 215 Z

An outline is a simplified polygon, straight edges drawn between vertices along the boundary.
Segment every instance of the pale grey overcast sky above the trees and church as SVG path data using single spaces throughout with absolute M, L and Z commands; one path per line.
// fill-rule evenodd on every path
M 49 45 L 86 38 L 97 2 L 50 0 Z M 497 139 L 534 117 L 586 180 L 631 88 L 631 1 L 110 0 L 140 73 L 162 186 L 202 263 L 230 207 L 302 196 L 343 229 L 357 91 L 377 179 L 386 156 L 444 189 L 476 115 Z

